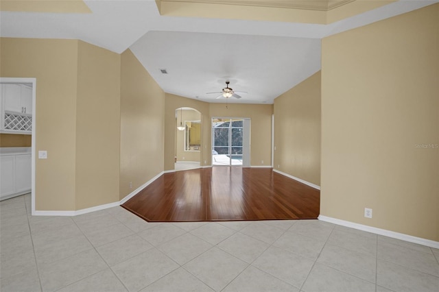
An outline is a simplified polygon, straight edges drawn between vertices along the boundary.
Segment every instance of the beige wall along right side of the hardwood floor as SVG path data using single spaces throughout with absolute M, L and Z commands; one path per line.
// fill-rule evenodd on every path
M 274 99 L 274 169 L 320 186 L 320 71 Z

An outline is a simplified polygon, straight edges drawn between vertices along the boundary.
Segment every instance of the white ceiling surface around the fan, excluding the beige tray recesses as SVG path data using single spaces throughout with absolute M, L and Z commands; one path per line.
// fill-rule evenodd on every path
M 320 70 L 321 38 L 438 1 L 400 0 L 316 25 L 161 16 L 154 0 L 94 0 L 84 1 L 91 14 L 0 12 L 0 36 L 80 39 L 116 53 L 130 48 L 167 93 L 225 102 L 205 93 L 230 80 L 248 94 L 229 102 L 272 104 Z

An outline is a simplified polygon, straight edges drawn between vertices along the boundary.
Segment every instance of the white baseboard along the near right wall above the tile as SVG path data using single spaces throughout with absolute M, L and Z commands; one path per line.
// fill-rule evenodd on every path
M 392 237 L 393 239 L 401 239 L 402 241 L 408 241 L 410 243 L 417 243 L 420 245 L 426 245 L 429 247 L 434 247 L 434 248 L 439 249 L 439 241 L 431 241 L 429 239 L 422 239 L 420 237 L 416 237 L 416 236 L 412 236 L 412 235 L 407 235 L 407 234 L 403 234 L 403 233 L 399 233 L 399 232 L 394 232 L 394 231 L 390 231 L 390 230 L 367 226 L 367 225 L 363 225 L 363 224 L 359 224 L 359 223 L 354 223 L 351 221 L 344 221 L 341 219 L 336 219 L 336 218 L 327 217 L 327 216 L 323 216 L 323 215 L 319 215 L 318 219 L 321 221 L 334 223 L 337 225 L 346 226 L 346 227 L 354 228 L 357 230 L 363 230 L 363 231 L 372 232 L 372 233 L 383 235 L 383 236 Z

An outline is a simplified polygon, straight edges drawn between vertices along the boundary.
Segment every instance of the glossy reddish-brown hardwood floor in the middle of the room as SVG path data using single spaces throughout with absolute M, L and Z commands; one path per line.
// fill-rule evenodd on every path
M 316 219 L 320 191 L 267 168 L 165 173 L 122 205 L 147 221 Z

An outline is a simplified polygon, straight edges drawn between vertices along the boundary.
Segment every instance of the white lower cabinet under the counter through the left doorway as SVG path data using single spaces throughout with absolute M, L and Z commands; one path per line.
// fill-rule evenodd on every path
M 32 155 L 0 156 L 0 200 L 29 193 L 32 188 Z

